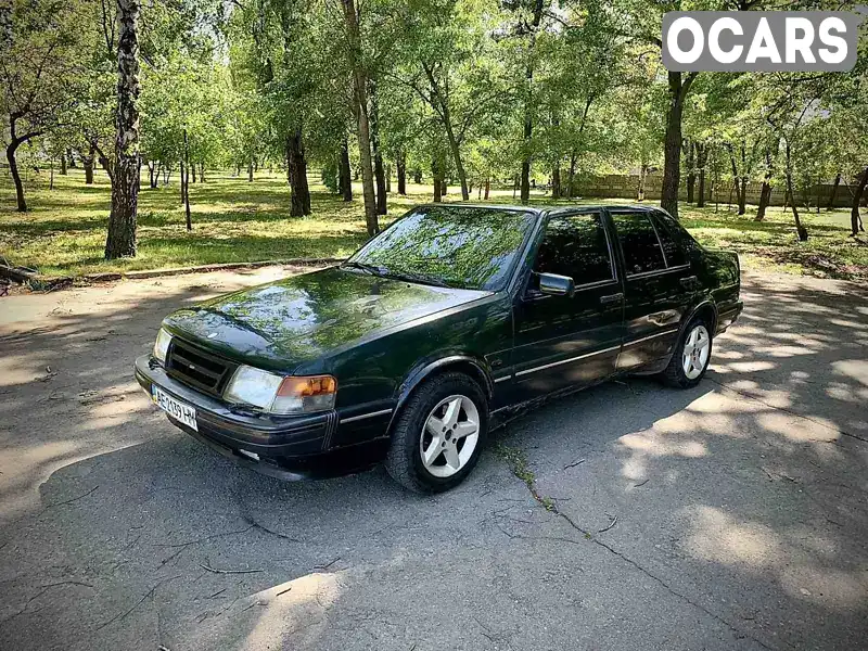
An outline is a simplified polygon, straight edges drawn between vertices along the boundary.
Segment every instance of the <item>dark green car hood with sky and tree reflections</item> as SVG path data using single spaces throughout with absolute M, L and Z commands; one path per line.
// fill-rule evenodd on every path
M 488 294 L 333 267 L 178 310 L 164 326 L 229 358 L 289 371 L 388 328 Z

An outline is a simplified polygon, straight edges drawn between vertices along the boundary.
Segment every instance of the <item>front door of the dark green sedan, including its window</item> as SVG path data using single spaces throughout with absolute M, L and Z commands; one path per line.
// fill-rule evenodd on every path
M 571 277 L 575 294 L 540 293 L 544 272 Z M 623 301 L 600 212 L 549 217 L 528 285 L 515 303 L 511 401 L 611 375 L 623 334 Z

